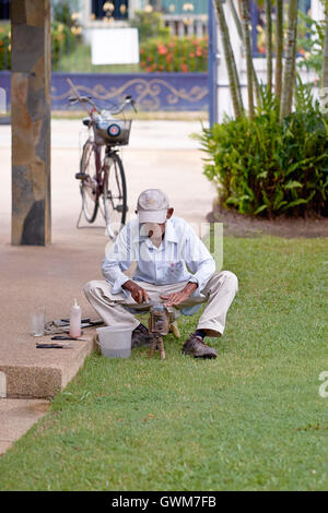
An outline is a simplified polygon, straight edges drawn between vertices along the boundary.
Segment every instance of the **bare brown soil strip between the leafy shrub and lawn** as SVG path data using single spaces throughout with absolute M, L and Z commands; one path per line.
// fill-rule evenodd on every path
M 292 218 L 279 216 L 274 220 L 239 214 L 216 203 L 207 219 L 223 223 L 223 234 L 234 237 L 263 237 L 273 235 L 286 239 L 328 237 L 328 217 Z

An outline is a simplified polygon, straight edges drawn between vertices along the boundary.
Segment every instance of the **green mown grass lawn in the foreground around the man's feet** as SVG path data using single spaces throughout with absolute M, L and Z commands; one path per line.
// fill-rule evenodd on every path
M 224 244 L 239 293 L 219 358 L 173 337 L 165 361 L 91 356 L 0 457 L 1 490 L 328 489 L 328 239 Z

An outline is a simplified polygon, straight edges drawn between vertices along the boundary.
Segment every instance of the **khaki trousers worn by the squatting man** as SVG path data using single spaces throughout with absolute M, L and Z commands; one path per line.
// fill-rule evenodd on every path
M 160 296 L 177 293 L 187 284 L 187 282 L 180 282 L 171 285 L 154 285 L 137 281 L 136 283 L 147 290 L 152 301 L 159 302 L 163 301 Z M 208 330 L 208 336 L 218 337 L 224 332 L 226 313 L 237 290 L 238 279 L 235 274 L 230 271 L 222 271 L 213 274 L 204 289 L 201 290 L 201 295 L 191 296 L 175 308 L 179 310 L 206 302 L 207 306 L 197 327 Z M 84 294 L 108 326 L 124 324 L 134 330 L 139 325 L 139 321 L 128 310 L 128 308 L 133 308 L 137 305 L 130 294 L 128 297 L 125 297 L 124 294 L 112 294 L 112 285 L 104 281 L 89 282 L 84 286 Z M 147 303 L 144 306 L 144 311 L 148 311 Z M 140 313 L 144 312 L 140 311 Z

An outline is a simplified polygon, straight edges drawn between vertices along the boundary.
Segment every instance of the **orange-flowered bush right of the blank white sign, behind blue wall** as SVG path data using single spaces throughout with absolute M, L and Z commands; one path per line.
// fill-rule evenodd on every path
M 208 38 L 152 38 L 140 45 L 143 71 L 207 71 Z

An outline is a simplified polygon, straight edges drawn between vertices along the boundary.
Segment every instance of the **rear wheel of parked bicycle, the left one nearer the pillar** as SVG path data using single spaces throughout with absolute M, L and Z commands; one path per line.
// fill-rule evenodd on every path
M 85 175 L 81 181 L 82 208 L 87 223 L 93 223 L 98 212 L 98 183 L 96 170 L 101 166 L 101 148 L 86 141 L 80 164 L 80 172 Z

